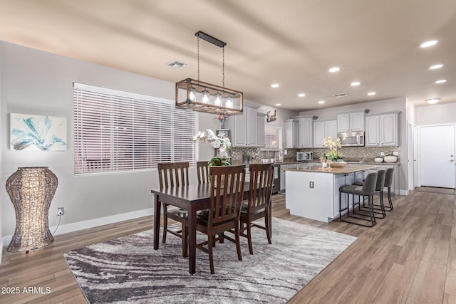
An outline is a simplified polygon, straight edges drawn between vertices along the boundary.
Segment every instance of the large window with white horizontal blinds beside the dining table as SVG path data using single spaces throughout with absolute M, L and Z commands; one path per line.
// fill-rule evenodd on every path
M 74 83 L 73 102 L 76 174 L 195 162 L 196 114 L 174 100 Z

